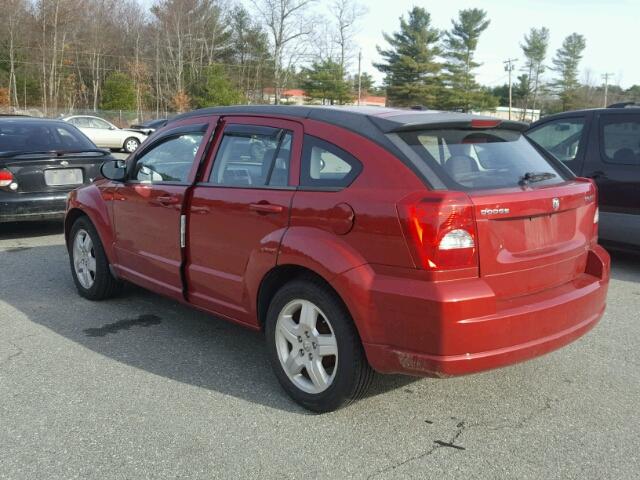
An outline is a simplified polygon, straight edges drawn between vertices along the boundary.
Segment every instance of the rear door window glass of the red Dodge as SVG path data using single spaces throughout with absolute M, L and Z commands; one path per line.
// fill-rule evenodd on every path
M 227 127 L 209 182 L 231 187 L 289 184 L 290 132 L 277 128 Z

